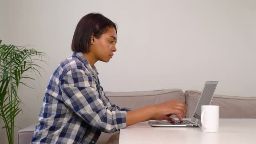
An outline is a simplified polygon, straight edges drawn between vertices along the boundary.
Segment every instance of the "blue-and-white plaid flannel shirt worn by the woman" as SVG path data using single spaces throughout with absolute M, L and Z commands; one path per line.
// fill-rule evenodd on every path
M 126 127 L 126 111 L 106 97 L 95 66 L 74 52 L 50 78 L 31 143 L 94 144 L 102 131 Z

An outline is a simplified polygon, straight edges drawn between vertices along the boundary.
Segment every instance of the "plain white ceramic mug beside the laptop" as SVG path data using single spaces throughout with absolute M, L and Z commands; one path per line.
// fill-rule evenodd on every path
M 219 132 L 220 107 L 218 105 L 202 105 L 201 112 L 202 131 Z

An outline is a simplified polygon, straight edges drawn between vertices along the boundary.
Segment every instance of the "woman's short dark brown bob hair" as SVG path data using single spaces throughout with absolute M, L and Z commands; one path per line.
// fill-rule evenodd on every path
M 71 49 L 73 52 L 89 53 L 91 52 L 92 34 L 95 38 L 113 27 L 117 33 L 117 25 L 100 13 L 89 13 L 82 17 L 75 28 L 72 39 Z

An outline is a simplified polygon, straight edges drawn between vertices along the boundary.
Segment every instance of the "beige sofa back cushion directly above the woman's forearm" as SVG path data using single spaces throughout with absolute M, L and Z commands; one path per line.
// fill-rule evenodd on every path
M 185 102 L 181 89 L 164 89 L 144 92 L 105 92 L 112 104 L 136 110 L 168 100 Z M 174 117 L 175 118 L 175 117 Z

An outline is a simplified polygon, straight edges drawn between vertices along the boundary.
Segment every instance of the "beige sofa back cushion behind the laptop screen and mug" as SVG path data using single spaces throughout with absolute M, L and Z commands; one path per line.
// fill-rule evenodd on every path
M 185 92 L 187 118 L 193 117 L 200 95 L 200 91 Z M 256 97 L 214 95 L 210 105 L 220 106 L 220 118 L 256 118 Z

